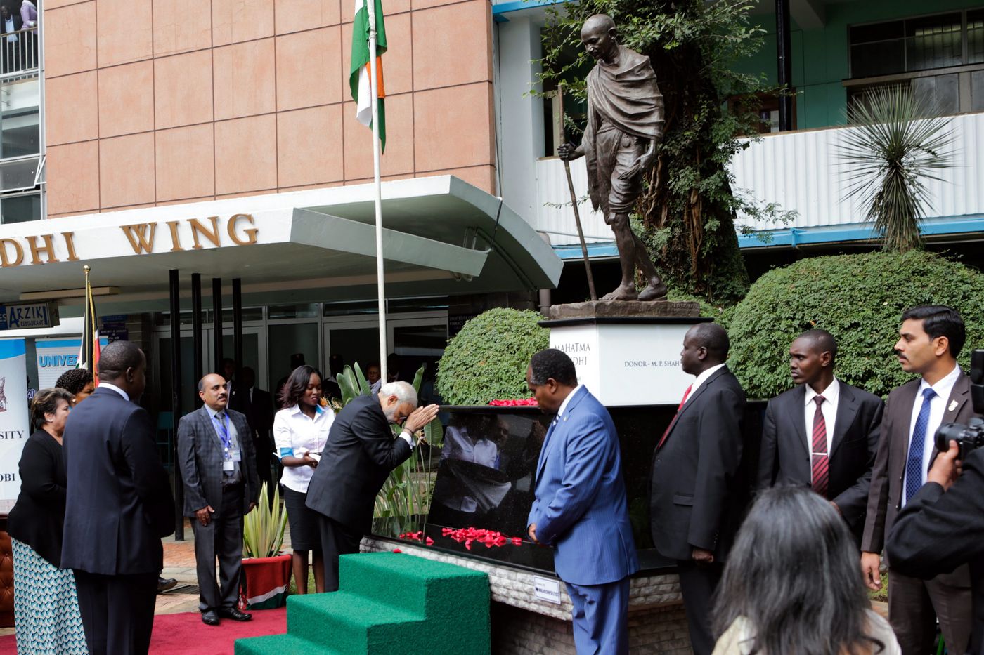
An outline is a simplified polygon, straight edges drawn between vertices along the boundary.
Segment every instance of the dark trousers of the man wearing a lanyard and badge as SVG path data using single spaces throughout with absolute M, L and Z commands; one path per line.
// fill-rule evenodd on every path
M 201 612 L 236 607 L 243 557 L 243 494 L 241 482 L 222 487 L 222 504 L 208 525 L 191 519 L 195 533 L 195 568 L 198 574 L 198 609 Z M 215 582 L 215 560 L 218 582 Z

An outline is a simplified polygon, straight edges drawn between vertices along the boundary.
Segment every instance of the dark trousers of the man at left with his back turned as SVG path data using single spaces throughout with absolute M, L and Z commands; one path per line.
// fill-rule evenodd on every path
M 75 570 L 90 655 L 146 655 L 151 648 L 157 574 Z

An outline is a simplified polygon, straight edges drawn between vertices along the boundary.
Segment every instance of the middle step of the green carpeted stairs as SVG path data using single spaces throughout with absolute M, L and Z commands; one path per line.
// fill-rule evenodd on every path
M 287 599 L 287 632 L 321 640 L 343 653 L 365 653 L 373 644 L 399 643 L 404 632 L 424 631 L 424 625 L 423 614 L 346 591 Z M 331 640 L 325 641 L 328 635 Z

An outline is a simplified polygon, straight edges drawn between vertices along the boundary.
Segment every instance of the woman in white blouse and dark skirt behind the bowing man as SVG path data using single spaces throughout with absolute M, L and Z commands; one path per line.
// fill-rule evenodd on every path
M 290 523 L 292 565 L 299 594 L 307 593 L 308 551 L 312 551 L 315 590 L 325 591 L 318 513 L 304 505 L 308 484 L 335 420 L 335 412 L 321 406 L 321 397 L 321 374 L 310 366 L 298 366 L 280 392 L 284 409 L 274 418 L 274 443 L 283 465 L 280 484 Z

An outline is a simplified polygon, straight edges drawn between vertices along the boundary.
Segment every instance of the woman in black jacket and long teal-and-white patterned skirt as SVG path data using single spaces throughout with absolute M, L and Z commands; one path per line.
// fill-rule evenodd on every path
M 41 389 L 31 403 L 34 434 L 21 455 L 21 494 L 10 510 L 14 626 L 19 653 L 87 653 L 71 569 L 60 568 L 65 520 L 62 438 L 73 396 Z

